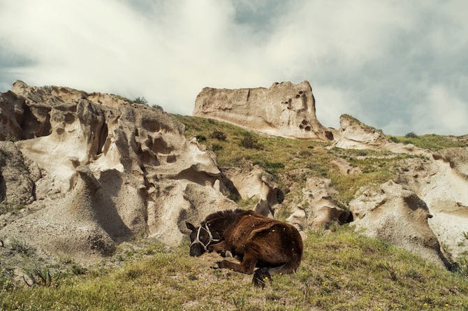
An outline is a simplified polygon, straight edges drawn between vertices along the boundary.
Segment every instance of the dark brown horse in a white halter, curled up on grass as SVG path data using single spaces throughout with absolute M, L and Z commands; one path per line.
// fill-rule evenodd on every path
M 218 261 L 215 268 L 254 273 L 252 282 L 258 287 L 265 287 L 265 280 L 271 283 L 272 274 L 294 273 L 299 267 L 302 238 L 291 224 L 252 210 L 214 212 L 198 228 L 186 224 L 191 230 L 190 256 L 201 256 L 206 251 L 231 253 L 241 262 Z

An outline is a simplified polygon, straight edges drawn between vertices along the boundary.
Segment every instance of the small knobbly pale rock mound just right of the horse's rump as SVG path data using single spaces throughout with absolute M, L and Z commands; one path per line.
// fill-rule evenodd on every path
M 332 198 L 336 191 L 328 178 L 309 178 L 302 189 L 302 202 L 291 210 L 287 221 L 301 231 L 326 229 L 332 222 L 344 224 L 349 211 Z

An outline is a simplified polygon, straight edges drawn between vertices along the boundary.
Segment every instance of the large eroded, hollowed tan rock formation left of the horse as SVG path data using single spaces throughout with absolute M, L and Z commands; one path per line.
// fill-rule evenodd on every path
M 0 108 L 1 135 L 17 140 L 0 145 L 1 194 L 27 205 L 20 217 L 0 217 L 7 243 L 21 236 L 45 252 L 90 259 L 135 236 L 179 243 L 185 219 L 235 207 L 218 190 L 214 154 L 161 110 L 20 81 Z

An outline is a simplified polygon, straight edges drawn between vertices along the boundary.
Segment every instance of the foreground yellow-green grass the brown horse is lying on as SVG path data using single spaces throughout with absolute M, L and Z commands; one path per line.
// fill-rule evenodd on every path
M 275 275 L 264 290 L 251 275 L 210 268 L 216 254 L 190 257 L 188 243 L 149 254 L 52 287 L 8 289 L 0 309 L 468 310 L 467 278 L 346 228 L 309 233 L 297 273 Z

